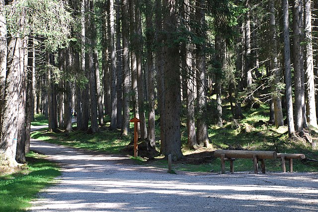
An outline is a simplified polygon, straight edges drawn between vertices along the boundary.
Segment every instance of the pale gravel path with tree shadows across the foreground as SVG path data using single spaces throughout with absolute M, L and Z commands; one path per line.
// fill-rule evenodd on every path
M 318 173 L 168 174 L 36 140 L 31 149 L 62 164 L 32 212 L 318 212 Z

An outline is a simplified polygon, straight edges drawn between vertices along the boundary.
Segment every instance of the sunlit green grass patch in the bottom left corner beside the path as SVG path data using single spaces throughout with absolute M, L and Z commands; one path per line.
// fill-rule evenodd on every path
M 27 169 L 0 175 L 0 211 L 23 212 L 29 208 L 36 194 L 54 183 L 60 175 L 57 164 L 38 154 L 27 155 Z

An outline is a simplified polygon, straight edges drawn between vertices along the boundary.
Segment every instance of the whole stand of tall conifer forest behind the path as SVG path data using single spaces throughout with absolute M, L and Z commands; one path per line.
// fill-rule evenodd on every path
M 49 132 L 107 128 L 182 159 L 182 137 L 287 126 L 316 150 L 318 1 L 0 0 L 0 163 L 25 163 L 35 115 Z M 76 111 L 76 126 L 72 116 Z M 230 126 L 230 128 L 231 128 Z M 224 139 L 226 143 L 226 135 Z

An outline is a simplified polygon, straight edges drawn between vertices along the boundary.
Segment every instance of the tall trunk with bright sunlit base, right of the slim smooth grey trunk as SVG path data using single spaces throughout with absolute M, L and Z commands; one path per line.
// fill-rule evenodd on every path
M 293 0 L 293 52 L 294 52 L 294 82 L 295 82 L 295 126 L 297 132 L 303 131 L 303 108 L 302 108 L 302 70 L 300 54 L 300 18 L 299 1 Z

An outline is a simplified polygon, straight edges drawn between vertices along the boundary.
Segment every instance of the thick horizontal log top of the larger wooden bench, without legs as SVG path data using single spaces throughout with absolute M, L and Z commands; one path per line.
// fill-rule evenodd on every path
M 275 151 L 249 151 L 249 150 L 216 150 L 214 157 L 220 158 L 221 155 L 225 158 L 244 158 L 252 159 L 256 155 L 258 159 L 276 159 L 277 153 Z

